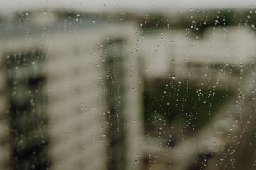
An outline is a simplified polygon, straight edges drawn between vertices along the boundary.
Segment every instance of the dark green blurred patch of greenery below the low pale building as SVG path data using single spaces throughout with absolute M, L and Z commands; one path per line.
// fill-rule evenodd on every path
M 188 128 L 202 128 L 231 96 L 228 89 L 195 86 L 190 82 L 169 80 L 146 84 L 144 120 L 153 123 L 161 118 L 166 123 L 181 121 Z

